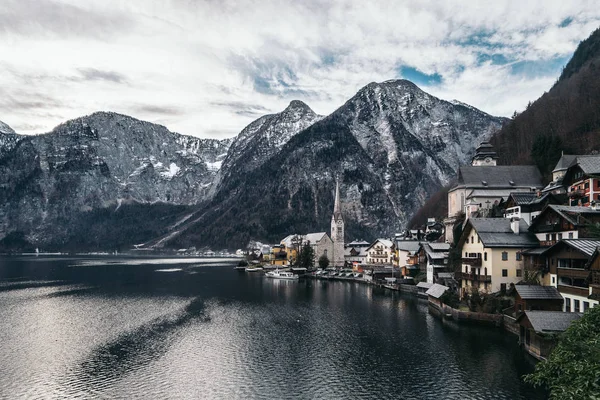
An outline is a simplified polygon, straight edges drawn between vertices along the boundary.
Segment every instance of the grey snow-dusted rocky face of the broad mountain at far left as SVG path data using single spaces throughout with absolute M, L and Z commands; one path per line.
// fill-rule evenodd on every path
M 0 157 L 0 238 L 60 246 L 97 210 L 201 203 L 230 144 L 106 112 L 21 137 Z

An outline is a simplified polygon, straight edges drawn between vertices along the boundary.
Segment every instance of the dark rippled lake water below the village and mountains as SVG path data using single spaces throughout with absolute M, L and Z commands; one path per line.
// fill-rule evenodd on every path
M 235 262 L 0 258 L 0 398 L 546 397 L 514 336 Z

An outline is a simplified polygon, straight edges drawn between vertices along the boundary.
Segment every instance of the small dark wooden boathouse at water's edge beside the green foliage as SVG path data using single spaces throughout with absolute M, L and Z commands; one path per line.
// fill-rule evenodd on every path
M 556 346 L 556 336 L 581 316 L 580 313 L 561 311 L 525 311 L 517 317 L 519 343 L 529 354 L 543 360 Z

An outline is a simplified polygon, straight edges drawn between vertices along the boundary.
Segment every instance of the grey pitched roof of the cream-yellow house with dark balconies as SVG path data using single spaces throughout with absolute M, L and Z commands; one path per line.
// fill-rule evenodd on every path
M 534 234 L 527 231 L 529 226 L 524 220 L 519 221 L 519 234 L 515 234 L 508 218 L 469 218 L 470 224 L 481 238 L 485 247 L 538 247 L 539 241 Z M 467 229 L 463 236 L 468 234 Z

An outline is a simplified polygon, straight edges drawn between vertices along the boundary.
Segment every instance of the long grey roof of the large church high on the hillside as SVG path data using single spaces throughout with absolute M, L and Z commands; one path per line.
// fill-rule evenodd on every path
M 462 166 L 458 182 L 459 185 L 481 188 L 543 187 L 542 175 L 534 165 Z

